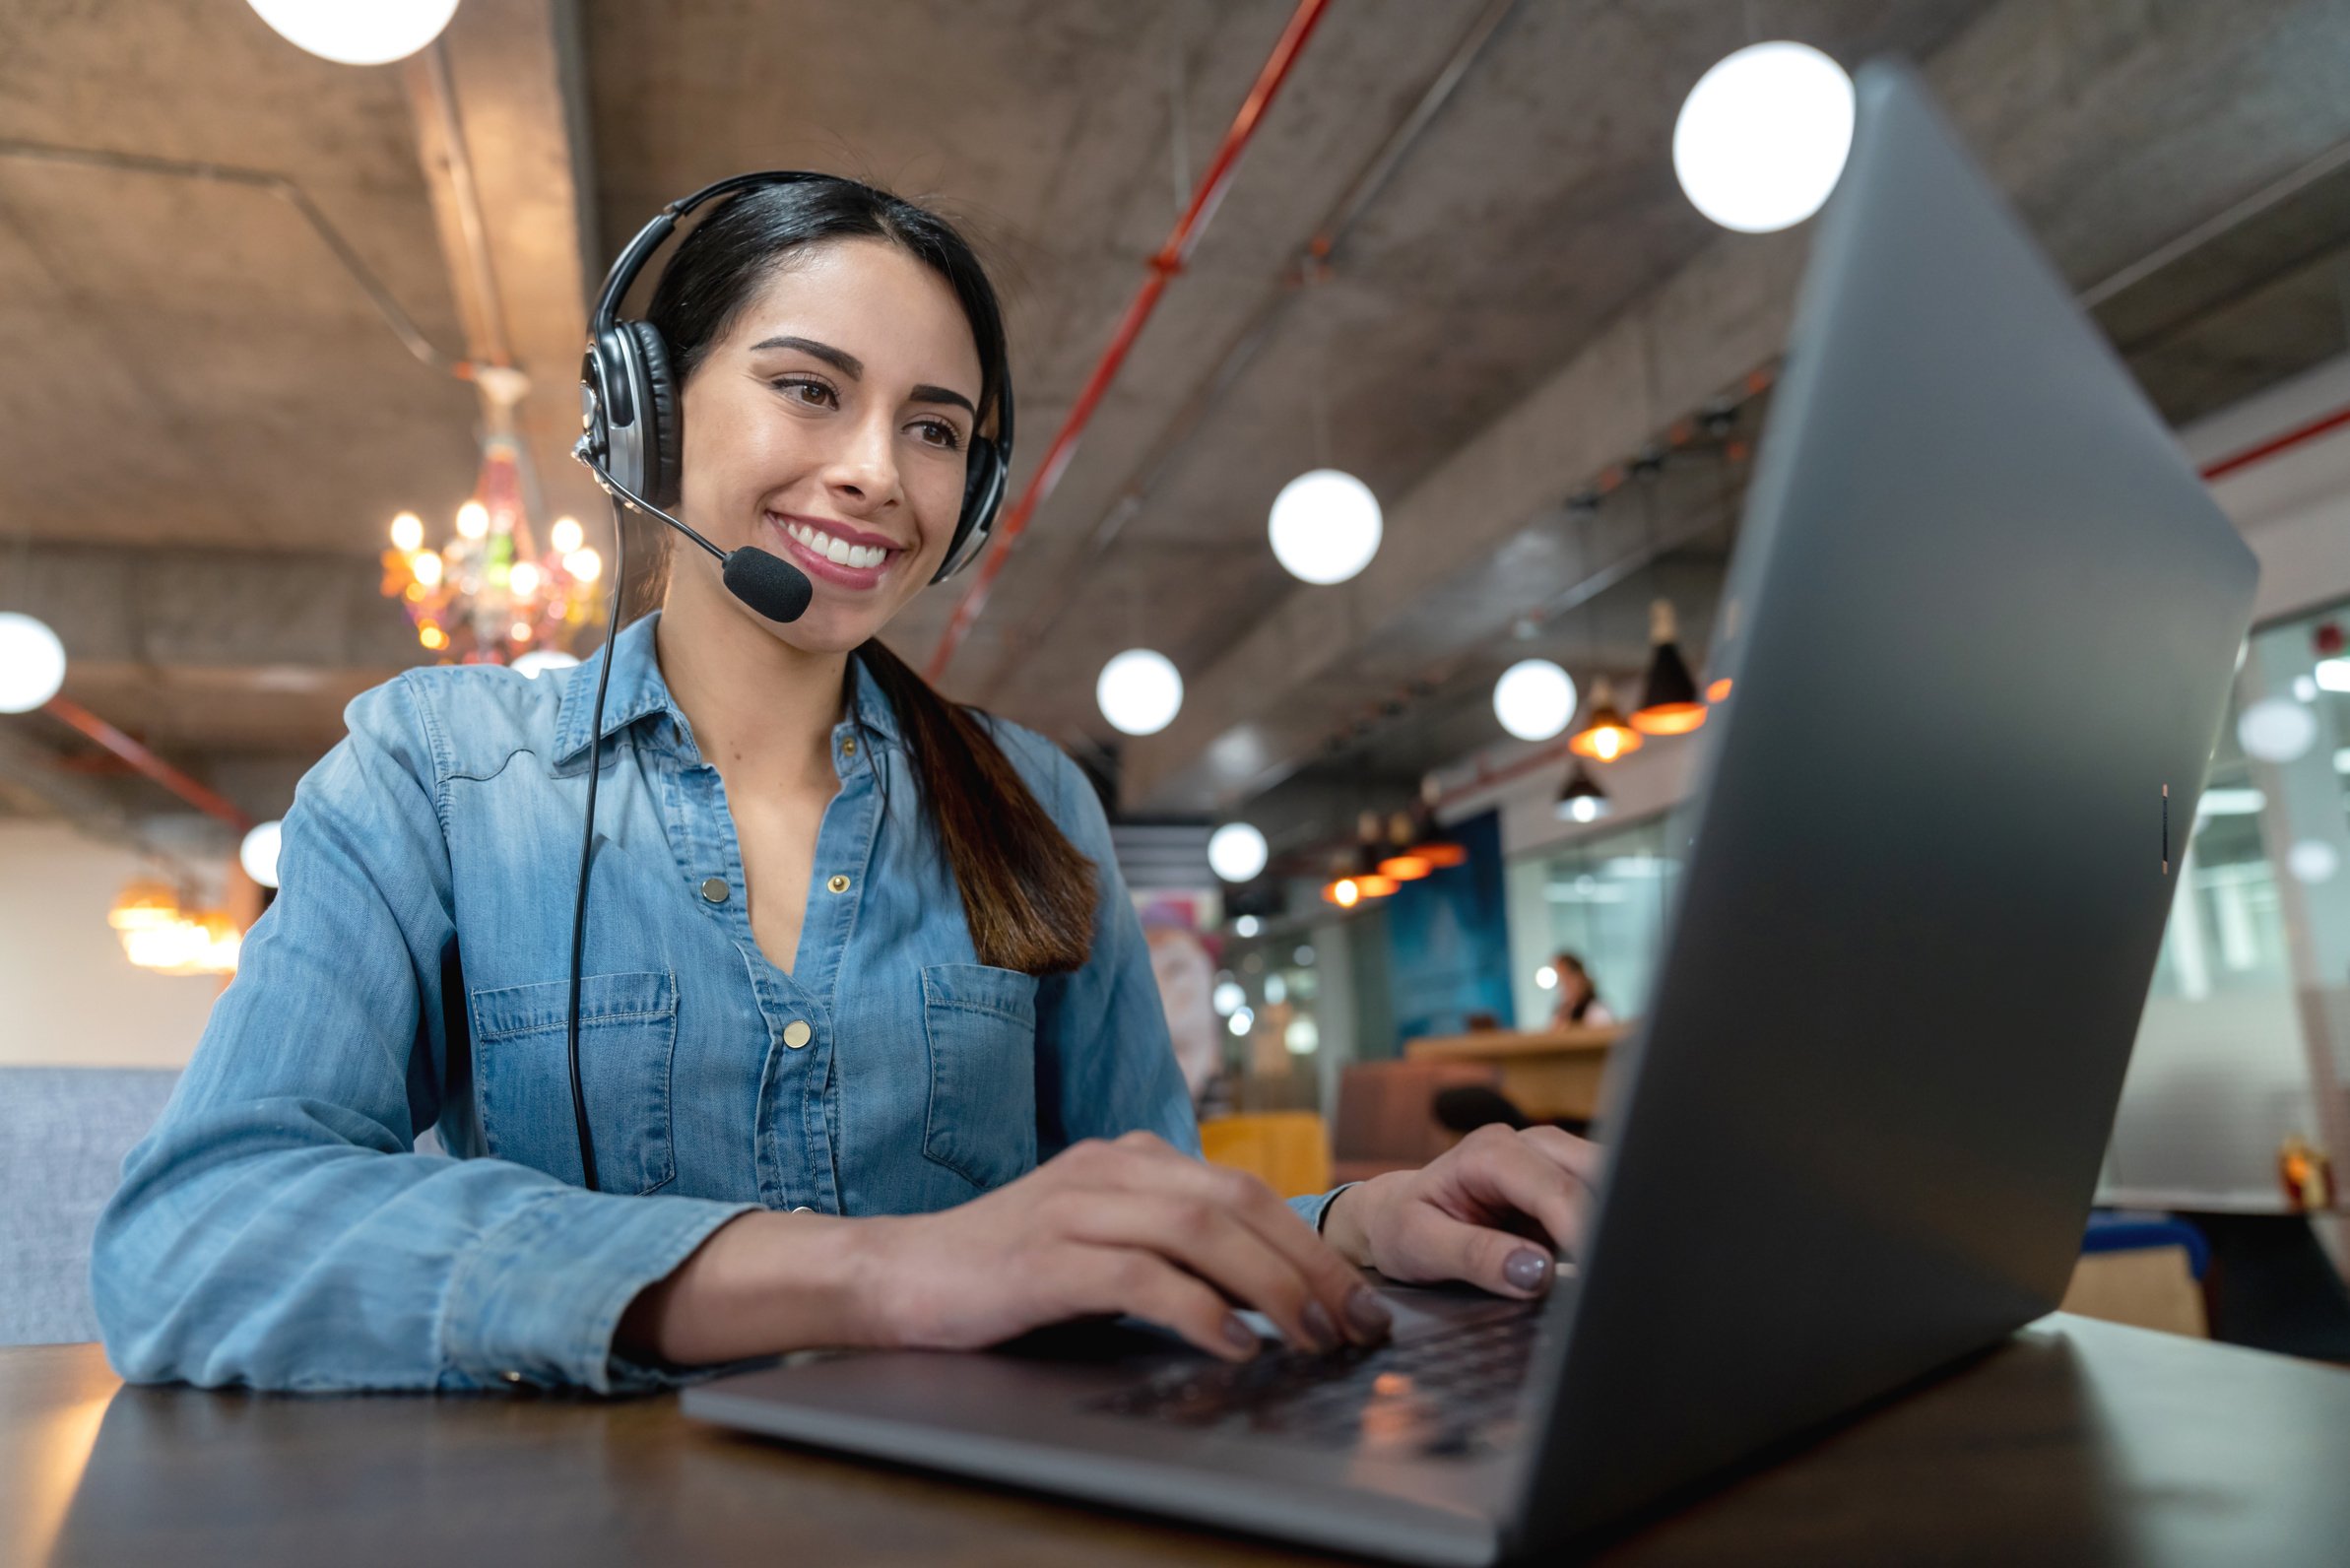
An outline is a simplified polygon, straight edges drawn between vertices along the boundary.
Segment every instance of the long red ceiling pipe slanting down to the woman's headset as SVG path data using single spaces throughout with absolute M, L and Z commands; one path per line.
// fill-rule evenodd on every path
M 1086 390 L 1076 395 L 1069 407 L 1069 416 L 1062 421 L 1060 433 L 1053 444 L 1046 447 L 1043 463 L 1029 477 L 1027 489 L 1013 503 L 1013 510 L 1003 515 L 996 524 L 996 536 L 987 548 L 987 557 L 980 559 L 980 574 L 964 590 L 964 597 L 954 607 L 954 616 L 947 621 L 947 630 L 938 637 L 938 649 L 931 651 L 931 663 L 924 668 L 933 682 L 947 672 L 954 661 L 954 651 L 971 635 L 971 625 L 987 609 L 987 595 L 996 578 L 1003 574 L 1003 562 L 1010 557 L 1013 545 L 1027 531 L 1029 517 L 1043 505 L 1053 487 L 1060 484 L 1060 475 L 1069 468 L 1069 458 L 1076 456 L 1076 442 L 1086 433 L 1086 423 L 1093 421 L 1093 409 L 1102 402 L 1102 393 L 1116 378 L 1119 367 L 1126 362 L 1126 353 L 1142 336 L 1142 324 L 1152 320 L 1152 310 L 1159 306 L 1159 296 L 1166 294 L 1168 280 L 1184 268 L 1191 259 L 1191 247 L 1198 244 L 1201 233 L 1208 228 L 1208 219 L 1215 216 L 1217 202 L 1224 200 L 1224 188 L 1231 183 L 1234 167 L 1241 162 L 1241 153 L 1248 148 L 1248 139 L 1257 132 L 1257 122 L 1271 106 L 1274 94 L 1281 92 L 1281 82 L 1288 80 L 1290 66 L 1297 63 L 1297 52 L 1304 49 L 1307 35 L 1314 33 L 1314 24 L 1321 21 L 1323 9 L 1330 0 L 1297 0 L 1297 9 L 1290 12 L 1290 24 L 1281 31 L 1281 40 L 1267 56 L 1264 68 L 1257 73 L 1257 85 L 1248 89 L 1248 99 L 1241 101 L 1241 113 L 1231 118 L 1231 129 L 1224 132 L 1224 143 L 1215 150 L 1215 160 L 1208 172 L 1201 174 L 1198 188 L 1191 193 L 1191 205 L 1175 221 L 1175 233 L 1168 242 L 1159 247 L 1159 254 L 1149 259 L 1149 273 L 1142 277 L 1142 287 L 1135 289 L 1135 299 L 1126 306 L 1126 315 L 1119 320 L 1119 329 L 1109 336 L 1109 348 L 1102 350 L 1100 364 L 1093 367 L 1093 376 L 1086 378 Z

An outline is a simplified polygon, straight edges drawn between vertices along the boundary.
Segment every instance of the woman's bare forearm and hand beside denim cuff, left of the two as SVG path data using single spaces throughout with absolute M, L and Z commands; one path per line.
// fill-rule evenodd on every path
M 1128 1133 L 940 1213 L 743 1215 L 637 1298 L 616 1345 L 677 1366 L 851 1345 L 978 1349 L 1133 1314 L 1246 1361 L 1260 1340 L 1234 1305 L 1302 1349 L 1389 1331 L 1377 1293 L 1271 1187 Z

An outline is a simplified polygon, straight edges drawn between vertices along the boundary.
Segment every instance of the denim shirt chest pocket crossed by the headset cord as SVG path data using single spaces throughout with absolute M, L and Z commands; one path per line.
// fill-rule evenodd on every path
M 580 1180 L 564 1027 L 571 980 L 477 990 L 470 1001 L 489 1152 Z M 677 976 L 580 976 L 580 1098 L 604 1192 L 651 1192 L 677 1175 L 670 1145 L 674 1051 Z

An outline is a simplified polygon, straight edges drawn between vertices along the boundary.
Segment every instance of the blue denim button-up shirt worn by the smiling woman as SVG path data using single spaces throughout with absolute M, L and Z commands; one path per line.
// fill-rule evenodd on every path
M 851 661 L 792 971 L 752 938 L 726 788 L 653 651 L 524 679 L 409 670 L 301 780 L 280 893 L 92 1258 L 129 1380 L 599 1392 L 630 1300 L 752 1208 L 938 1211 L 1079 1138 L 1198 1152 L 1083 773 L 994 733 L 1100 879 L 1083 969 L 978 961 L 895 715 Z M 580 1180 L 564 1051 L 588 766 Z M 416 1138 L 437 1133 L 439 1152 Z M 1318 1222 L 1325 1199 L 1297 1199 Z

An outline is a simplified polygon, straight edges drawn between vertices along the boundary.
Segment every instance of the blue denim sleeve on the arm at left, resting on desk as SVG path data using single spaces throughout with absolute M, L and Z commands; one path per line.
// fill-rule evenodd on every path
M 618 1197 L 418 1154 L 449 1081 L 456 929 L 414 677 L 360 696 L 296 790 L 280 893 L 99 1220 L 92 1298 L 132 1382 L 616 1392 L 630 1300 L 745 1204 Z

